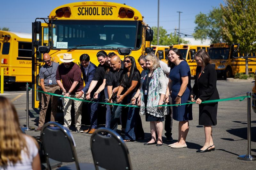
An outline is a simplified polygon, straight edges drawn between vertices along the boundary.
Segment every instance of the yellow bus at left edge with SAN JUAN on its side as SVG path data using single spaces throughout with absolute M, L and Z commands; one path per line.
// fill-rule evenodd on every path
M 0 31 L 4 83 L 31 82 L 32 34 Z

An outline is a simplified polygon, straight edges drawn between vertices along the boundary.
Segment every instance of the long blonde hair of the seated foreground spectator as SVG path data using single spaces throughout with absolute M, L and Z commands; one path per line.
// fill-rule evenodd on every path
M 21 150 L 28 154 L 16 109 L 10 100 L 0 96 L 0 166 L 20 161 Z

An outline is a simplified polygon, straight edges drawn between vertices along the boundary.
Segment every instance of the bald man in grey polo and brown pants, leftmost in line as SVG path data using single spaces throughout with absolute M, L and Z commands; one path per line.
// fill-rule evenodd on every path
M 60 94 L 60 87 L 55 78 L 59 63 L 53 62 L 52 57 L 48 53 L 43 55 L 43 60 L 45 64 L 39 71 L 41 88 L 44 92 Z M 46 111 L 49 106 L 50 99 L 52 101 L 51 122 L 55 121 L 58 97 L 42 93 L 42 107 L 39 113 L 38 128 L 35 129 L 35 131 L 40 131 L 44 126 Z

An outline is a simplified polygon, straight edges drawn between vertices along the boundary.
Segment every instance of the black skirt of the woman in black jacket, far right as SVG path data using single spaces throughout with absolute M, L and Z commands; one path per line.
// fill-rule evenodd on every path
M 199 105 L 199 125 L 215 126 L 217 124 L 218 103 Z

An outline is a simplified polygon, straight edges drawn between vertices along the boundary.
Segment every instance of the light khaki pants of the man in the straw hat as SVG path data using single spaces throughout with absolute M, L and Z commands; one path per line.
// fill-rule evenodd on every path
M 64 94 L 62 93 L 62 95 L 64 95 Z M 75 97 L 75 95 L 72 94 L 69 97 Z M 84 94 L 79 99 L 84 99 Z M 63 113 L 64 113 L 64 126 L 69 128 L 71 125 L 71 112 L 70 111 L 71 111 L 72 102 L 74 102 L 76 129 L 79 130 L 81 128 L 83 102 L 62 97 Z

